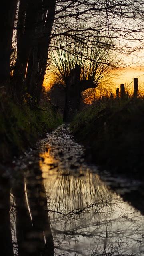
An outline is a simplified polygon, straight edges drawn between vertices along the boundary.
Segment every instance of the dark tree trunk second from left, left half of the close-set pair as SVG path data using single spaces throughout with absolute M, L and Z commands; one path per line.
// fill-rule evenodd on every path
M 23 1 L 18 13 L 18 55 L 13 74 L 14 92 L 18 99 L 20 99 L 24 89 L 28 59 L 36 39 L 35 31 L 41 0 L 27 0 L 26 3 Z

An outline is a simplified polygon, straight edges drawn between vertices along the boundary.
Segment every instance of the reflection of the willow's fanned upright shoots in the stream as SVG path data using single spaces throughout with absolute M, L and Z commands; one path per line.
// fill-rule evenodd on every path
M 75 174 L 46 176 L 46 192 L 51 198 L 53 210 L 66 213 L 111 200 L 112 193 L 108 192 L 98 176 L 92 176 L 89 172 L 84 175 L 81 178 Z

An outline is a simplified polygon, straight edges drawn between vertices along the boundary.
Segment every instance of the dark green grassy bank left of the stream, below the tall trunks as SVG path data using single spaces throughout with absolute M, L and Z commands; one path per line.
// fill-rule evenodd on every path
M 62 123 L 48 102 L 38 108 L 27 101 L 15 104 L 0 96 L 0 162 L 9 162 L 14 155 L 33 147 L 39 138 Z

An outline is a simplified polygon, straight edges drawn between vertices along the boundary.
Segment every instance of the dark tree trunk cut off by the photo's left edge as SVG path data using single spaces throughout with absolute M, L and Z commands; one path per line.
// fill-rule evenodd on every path
M 8 87 L 10 80 L 10 56 L 17 0 L 0 2 L 0 84 Z

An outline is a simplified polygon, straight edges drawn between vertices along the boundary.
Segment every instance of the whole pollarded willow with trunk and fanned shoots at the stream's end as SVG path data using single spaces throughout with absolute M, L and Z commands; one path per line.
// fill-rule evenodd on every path
M 86 29 L 85 24 L 77 24 Z M 83 38 L 59 35 L 51 41 L 55 51 L 50 51 L 51 70 L 65 84 L 66 98 L 64 120 L 71 118 L 79 109 L 80 98 L 85 90 L 96 88 L 112 74 L 120 63 L 113 51 L 113 40 L 100 32 L 83 33 Z

